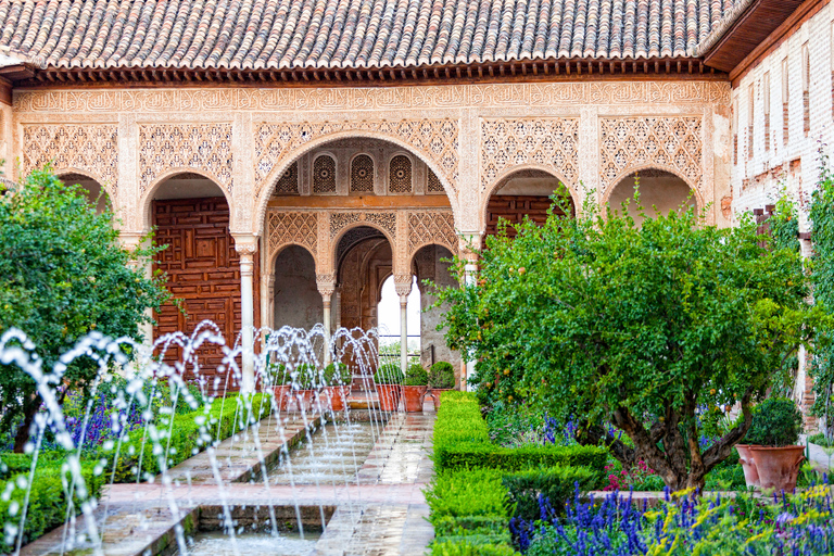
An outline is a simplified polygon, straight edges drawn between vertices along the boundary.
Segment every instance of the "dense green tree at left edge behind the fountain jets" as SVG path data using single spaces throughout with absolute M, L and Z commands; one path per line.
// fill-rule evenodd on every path
M 159 251 L 124 249 L 112 213 L 96 214 L 80 186 L 34 170 L 20 190 L 0 195 L 0 333 L 23 330 L 46 368 L 92 331 L 141 340 L 147 309 L 168 300 L 164 276 L 144 276 L 144 263 Z M 98 371 L 92 358 L 80 357 L 62 381 L 86 390 Z M 0 366 L 0 429 L 20 424 L 18 450 L 41 402 L 23 369 Z

